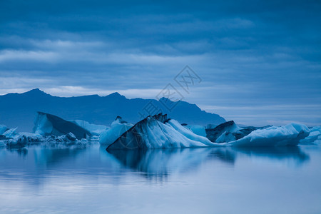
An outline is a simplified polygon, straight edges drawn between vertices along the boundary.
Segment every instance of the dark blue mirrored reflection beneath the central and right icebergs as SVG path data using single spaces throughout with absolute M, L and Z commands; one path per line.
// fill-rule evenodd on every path
M 205 161 L 220 161 L 234 165 L 238 161 L 239 155 L 250 158 L 266 158 L 267 161 L 285 161 L 286 163 L 294 161 L 297 166 L 310 160 L 307 153 L 301 151 L 298 146 L 113 150 L 108 153 L 124 167 L 142 172 L 147 177 L 188 172 Z

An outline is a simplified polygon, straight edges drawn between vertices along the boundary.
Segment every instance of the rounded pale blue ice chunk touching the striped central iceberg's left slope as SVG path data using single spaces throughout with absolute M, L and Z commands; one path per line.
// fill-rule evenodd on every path
M 101 132 L 99 143 L 101 143 L 102 146 L 111 145 L 111 143 L 116 141 L 119 136 L 128 131 L 132 126 L 133 124 L 123 121 L 123 119 L 118 116 L 116 120 L 111 123 L 111 128 Z

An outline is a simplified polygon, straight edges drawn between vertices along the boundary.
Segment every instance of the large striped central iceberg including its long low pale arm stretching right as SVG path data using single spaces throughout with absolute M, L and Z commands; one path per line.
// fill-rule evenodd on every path
M 226 124 L 225 124 L 226 125 Z M 233 123 L 221 126 L 220 136 L 226 131 L 240 131 Z M 226 128 L 228 127 L 228 128 Z M 111 128 L 110 131 L 112 131 Z M 223 133 L 222 133 L 223 132 Z M 287 126 L 272 126 L 246 133 L 242 138 L 223 143 L 214 143 L 166 115 L 148 116 L 138 122 L 111 143 L 107 150 L 133 148 L 195 148 L 208 146 L 293 146 L 310 133 L 305 125 L 290 123 Z M 223 141 L 223 140 L 222 140 Z M 107 145 L 107 144 L 106 144 Z

